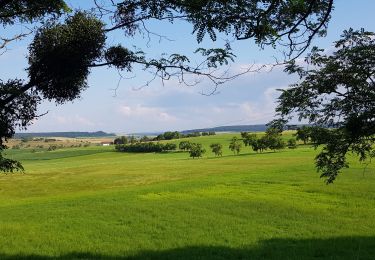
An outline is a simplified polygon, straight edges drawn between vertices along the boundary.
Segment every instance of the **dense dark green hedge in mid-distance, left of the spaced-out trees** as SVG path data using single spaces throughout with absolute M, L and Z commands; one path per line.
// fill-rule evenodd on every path
M 173 151 L 176 150 L 176 144 L 162 144 L 154 142 L 146 143 L 130 143 L 125 145 L 116 145 L 115 149 L 118 152 L 127 152 L 127 153 L 160 153 L 164 151 Z

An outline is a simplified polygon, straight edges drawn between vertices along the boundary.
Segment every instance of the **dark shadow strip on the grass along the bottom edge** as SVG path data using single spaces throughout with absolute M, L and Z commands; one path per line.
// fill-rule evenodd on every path
M 165 251 L 141 251 L 136 255 L 106 256 L 74 252 L 51 257 L 43 255 L 6 255 L 0 259 L 375 259 L 375 237 L 338 237 L 330 239 L 270 239 L 257 247 L 192 246 Z

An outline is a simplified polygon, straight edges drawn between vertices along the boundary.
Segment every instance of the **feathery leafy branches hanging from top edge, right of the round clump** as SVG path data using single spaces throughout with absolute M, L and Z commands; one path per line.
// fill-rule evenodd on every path
M 133 35 L 141 26 L 142 17 L 170 22 L 182 18 L 193 25 L 198 42 L 206 35 L 215 41 L 217 33 L 223 33 L 237 40 L 254 38 L 261 46 L 285 40 L 290 51 L 298 52 L 315 35 L 325 34 L 332 4 L 330 0 L 127 0 L 117 5 L 114 28 L 121 27 L 127 35 Z

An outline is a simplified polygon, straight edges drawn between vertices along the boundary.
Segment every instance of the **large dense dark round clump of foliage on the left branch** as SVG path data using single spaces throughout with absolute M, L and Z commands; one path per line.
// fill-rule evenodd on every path
M 102 55 L 104 24 L 78 12 L 64 24 L 47 23 L 29 47 L 31 85 L 58 103 L 79 97 L 87 87 L 89 66 Z

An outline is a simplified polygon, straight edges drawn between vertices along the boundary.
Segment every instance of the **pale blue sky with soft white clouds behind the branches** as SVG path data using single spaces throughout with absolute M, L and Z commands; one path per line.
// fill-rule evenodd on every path
M 68 1 L 73 8 L 86 7 L 88 2 Z M 339 39 L 342 31 L 349 27 L 375 32 L 373 10 L 373 0 L 336 0 L 327 36 L 316 39 L 313 45 L 332 49 L 332 42 Z M 151 31 L 161 33 L 169 40 L 159 41 L 159 38 L 154 36 L 148 42 L 147 37 L 129 39 L 116 32 L 111 34 L 107 41 L 142 47 L 152 57 L 159 57 L 165 52 L 193 53 L 198 46 L 188 24 L 151 23 L 148 26 Z M 17 32 L 21 28 L 15 26 L 12 30 Z M 25 68 L 28 43 L 29 40 L 15 43 L 6 53 L 0 55 L 1 79 L 27 79 Z M 205 40 L 201 47 L 221 46 L 220 43 Z M 233 43 L 232 48 L 237 55 L 230 68 L 233 73 L 241 72 L 253 64 L 268 64 L 273 61 L 272 56 L 277 55 L 277 51 L 271 48 L 261 50 L 251 40 Z M 221 85 L 214 95 L 207 96 L 202 93 L 211 93 L 214 88 L 207 80 L 190 87 L 180 85 L 175 80 L 164 84 L 156 80 L 149 86 L 144 86 L 152 75 L 135 69 L 122 76 L 124 78 L 119 81 L 120 76 L 116 70 L 92 70 L 88 79 L 89 88 L 82 93 L 81 98 L 58 106 L 43 102 L 39 113 L 47 114 L 34 120 L 27 132 L 102 130 L 129 134 L 264 124 L 274 117 L 278 89 L 298 81 L 295 76 L 284 73 L 281 67 L 276 67 L 273 70 L 264 69 L 262 72 L 242 75 Z

